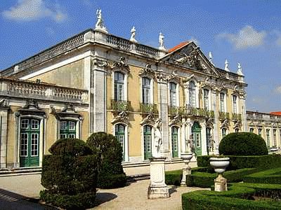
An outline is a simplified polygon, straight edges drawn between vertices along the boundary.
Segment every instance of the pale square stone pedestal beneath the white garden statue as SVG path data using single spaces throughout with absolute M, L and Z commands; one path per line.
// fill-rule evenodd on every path
M 150 158 L 150 185 L 148 186 L 148 199 L 170 197 L 165 183 L 165 159 Z

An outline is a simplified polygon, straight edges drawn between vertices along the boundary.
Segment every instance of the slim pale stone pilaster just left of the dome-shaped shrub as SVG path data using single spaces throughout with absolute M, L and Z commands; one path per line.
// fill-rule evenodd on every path
M 218 106 L 216 104 L 216 90 L 211 90 L 211 110 L 214 111 L 214 154 L 218 154 L 218 144 L 219 144 L 219 139 L 218 139 Z

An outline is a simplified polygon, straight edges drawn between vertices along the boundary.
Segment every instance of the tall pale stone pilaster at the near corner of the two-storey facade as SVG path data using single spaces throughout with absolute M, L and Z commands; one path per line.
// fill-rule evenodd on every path
M 107 62 L 93 59 L 90 88 L 90 132 L 106 132 L 106 66 Z

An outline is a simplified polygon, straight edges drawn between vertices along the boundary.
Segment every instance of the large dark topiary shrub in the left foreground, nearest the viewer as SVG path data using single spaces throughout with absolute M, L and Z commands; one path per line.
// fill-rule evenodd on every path
M 44 155 L 40 198 L 64 209 L 93 207 L 96 197 L 98 158 L 79 139 L 60 139 Z

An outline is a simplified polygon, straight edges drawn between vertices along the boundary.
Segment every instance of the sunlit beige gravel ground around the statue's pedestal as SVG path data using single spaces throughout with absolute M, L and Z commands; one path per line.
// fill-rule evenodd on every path
M 131 183 L 124 188 L 98 190 L 96 201 L 99 203 L 99 206 L 93 209 L 178 210 L 181 209 L 181 194 L 195 190 L 203 190 L 203 188 L 169 186 L 171 197 L 166 199 L 148 200 L 149 183 L 149 180 L 143 180 Z

